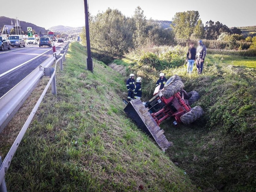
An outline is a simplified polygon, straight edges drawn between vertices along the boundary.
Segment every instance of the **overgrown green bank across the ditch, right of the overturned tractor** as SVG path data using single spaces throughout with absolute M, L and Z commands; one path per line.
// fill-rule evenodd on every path
M 197 75 L 195 66 L 188 75 L 182 63 L 180 67 L 162 71 L 167 78 L 179 75 L 187 92 L 197 91 L 201 98 L 192 107 L 200 105 L 205 112 L 189 126 L 174 127 L 173 119 L 160 125 L 166 138 L 174 143 L 167 154 L 203 191 L 254 191 L 256 58 L 237 56 L 244 52 L 230 54 L 215 50 L 211 53 L 206 56 L 203 75 Z M 142 76 L 143 99 L 147 100 L 152 96 L 160 71 L 152 65 L 134 64 L 134 59 L 138 60 L 138 56 L 130 54 L 114 62 L 128 64 L 126 68 Z

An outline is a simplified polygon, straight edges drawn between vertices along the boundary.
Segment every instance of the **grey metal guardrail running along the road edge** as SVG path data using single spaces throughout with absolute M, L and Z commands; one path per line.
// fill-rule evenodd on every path
M 43 76 L 50 77 L 50 80 L 47 83 L 43 93 L 41 94 L 35 107 L 33 108 L 25 124 L 20 130 L 20 133 L 18 134 L 8 154 L 3 160 L 3 163 L 2 163 L 2 157 L 0 157 L 0 166 L 1 166 L 0 167 L 0 192 L 7 192 L 7 187 L 5 183 L 5 174 L 50 84 L 52 84 L 52 94 L 54 95 L 57 94 L 56 78 L 55 78 L 56 65 L 59 62 L 60 70 L 63 70 L 62 60 L 65 61 L 65 55 L 67 54 L 68 48 L 69 48 L 69 42 L 66 43 L 64 46 L 62 46 L 58 51 L 53 53 L 52 56 L 50 56 L 47 60 L 45 60 L 40 66 L 38 66 L 34 71 L 32 71 L 26 78 L 20 81 L 20 83 L 18 83 L 15 87 L 13 87 L 11 90 L 9 90 L 7 93 L 5 93 L 5 95 L 3 95 L 0 98 L 0 133 L 1 133 L 2 130 L 5 128 L 5 126 L 8 124 L 8 122 L 15 115 L 15 113 L 26 101 L 28 96 L 35 89 L 35 87 L 37 86 L 41 78 Z M 55 67 L 54 68 L 50 67 L 54 64 L 55 60 L 56 60 Z

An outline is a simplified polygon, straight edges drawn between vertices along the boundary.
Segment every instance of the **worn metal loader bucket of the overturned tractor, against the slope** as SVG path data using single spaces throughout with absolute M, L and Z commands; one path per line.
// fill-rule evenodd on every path
M 145 105 L 143 105 L 140 99 L 134 99 L 128 102 L 123 111 L 137 123 L 140 129 L 145 131 L 149 136 L 152 136 L 163 151 L 171 145 L 163 134 L 164 130 L 160 129 L 154 118 L 148 112 L 148 108 L 145 108 Z

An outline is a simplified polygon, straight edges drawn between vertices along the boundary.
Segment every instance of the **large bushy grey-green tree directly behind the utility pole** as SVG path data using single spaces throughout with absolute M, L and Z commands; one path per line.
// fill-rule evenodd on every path
M 134 23 L 117 9 L 108 8 L 90 18 L 91 46 L 114 55 L 123 55 L 133 47 Z M 81 33 L 84 42 L 85 29 Z M 86 42 L 84 42 L 86 44 Z

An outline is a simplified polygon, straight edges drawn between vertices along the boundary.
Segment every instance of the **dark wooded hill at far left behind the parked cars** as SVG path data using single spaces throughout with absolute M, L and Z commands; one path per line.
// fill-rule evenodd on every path
M 3 29 L 4 25 L 11 25 L 11 21 L 14 23 L 15 19 L 14 18 L 0 16 L 0 30 Z M 33 23 L 27 23 L 25 21 L 20 21 L 20 26 L 22 27 L 22 31 L 27 31 L 27 27 L 32 27 L 32 29 L 35 30 L 35 32 L 37 32 L 38 34 L 39 34 L 40 31 L 42 33 L 47 31 L 43 27 L 39 27 L 39 26 L 37 26 L 37 25 L 35 25 Z

